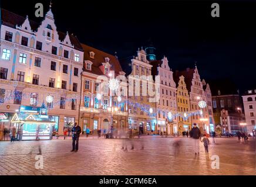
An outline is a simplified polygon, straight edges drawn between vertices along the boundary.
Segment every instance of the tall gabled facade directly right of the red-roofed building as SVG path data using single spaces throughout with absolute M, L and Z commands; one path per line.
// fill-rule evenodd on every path
M 128 76 L 128 121 L 129 129 L 143 134 L 157 133 L 157 92 L 151 68 L 146 52 L 139 49 L 132 59 L 132 73 Z

